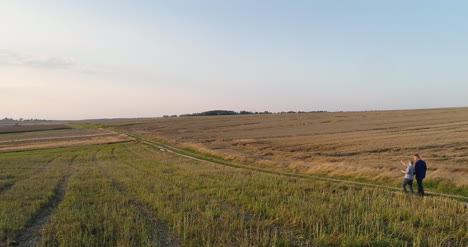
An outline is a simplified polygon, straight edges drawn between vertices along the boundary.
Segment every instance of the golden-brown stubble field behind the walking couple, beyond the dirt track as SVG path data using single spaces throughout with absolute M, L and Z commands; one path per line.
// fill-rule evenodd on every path
M 242 162 L 310 174 L 397 182 L 419 153 L 427 179 L 468 185 L 468 108 L 102 122 Z

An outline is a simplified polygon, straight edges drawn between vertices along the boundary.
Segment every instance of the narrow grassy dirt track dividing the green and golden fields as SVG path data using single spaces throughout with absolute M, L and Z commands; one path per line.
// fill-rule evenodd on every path
M 211 157 L 203 157 L 202 154 L 197 154 L 201 157 L 196 157 L 193 154 L 187 154 L 186 151 L 179 149 L 177 147 L 173 147 L 168 144 L 162 144 L 162 143 L 155 143 L 154 141 L 150 141 L 142 136 L 128 133 L 125 131 L 121 130 L 115 130 L 111 129 L 111 131 L 115 131 L 117 133 L 125 134 L 129 137 L 133 137 L 136 139 L 136 141 L 141 142 L 145 145 L 152 146 L 153 148 L 157 148 L 159 151 L 162 152 L 168 152 L 180 157 L 185 157 L 188 159 L 192 160 L 197 160 L 205 163 L 210 163 L 210 164 L 215 164 L 215 165 L 221 165 L 225 167 L 232 167 L 232 168 L 238 168 L 238 169 L 244 169 L 244 170 L 250 170 L 250 171 L 255 171 L 255 172 L 261 172 L 265 174 L 273 174 L 273 175 L 281 175 L 281 176 L 286 176 L 286 177 L 296 177 L 296 178 L 304 178 L 304 179 L 315 179 L 315 180 L 321 180 L 321 181 L 329 181 L 329 182 L 335 182 L 335 183 L 345 183 L 345 184 L 353 184 L 353 185 L 359 185 L 359 186 L 368 186 L 368 187 L 374 187 L 374 188 L 381 188 L 381 189 L 387 189 L 387 190 L 393 190 L 393 191 L 400 191 L 401 188 L 397 187 L 391 187 L 391 186 L 385 186 L 385 185 L 379 185 L 379 184 L 372 184 L 372 183 L 366 183 L 366 182 L 358 182 L 358 181 L 351 181 L 351 180 L 345 180 L 345 179 L 339 179 L 339 178 L 329 178 L 329 177 L 321 177 L 321 176 L 316 176 L 316 175 L 308 175 L 308 174 L 298 174 L 298 173 L 290 173 L 290 172 L 281 172 L 281 171 L 272 171 L 268 169 L 262 169 L 262 168 L 255 168 L 255 167 L 249 167 L 246 165 L 238 164 L 238 163 L 232 163 L 232 162 L 226 162 L 222 160 L 216 160 Z M 182 153 L 183 152 L 183 153 Z M 445 193 L 437 193 L 437 192 L 431 192 L 431 191 L 426 191 L 427 195 L 432 195 L 432 196 L 440 196 L 440 197 L 448 197 L 452 199 L 461 199 L 464 201 L 468 201 L 468 197 L 462 196 L 462 195 L 454 195 L 454 194 L 445 194 Z M 467 202 L 463 202 L 465 206 L 468 206 Z

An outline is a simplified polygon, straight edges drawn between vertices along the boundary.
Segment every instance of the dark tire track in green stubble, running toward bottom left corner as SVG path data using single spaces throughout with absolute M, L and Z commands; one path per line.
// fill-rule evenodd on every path
M 74 164 L 78 155 L 73 156 L 69 165 L 68 173 L 63 176 L 60 184 L 55 188 L 53 199 L 32 217 L 27 227 L 18 235 L 17 243 L 19 247 L 38 246 L 41 240 L 44 226 L 51 220 L 52 213 L 62 203 L 68 188 L 68 178 L 73 173 Z M 44 169 L 45 170 L 45 169 Z

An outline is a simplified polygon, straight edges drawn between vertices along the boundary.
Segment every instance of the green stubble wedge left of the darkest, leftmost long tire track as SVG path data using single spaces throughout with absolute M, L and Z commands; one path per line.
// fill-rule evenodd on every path
M 33 157 L 28 154 L 32 154 Z M 32 162 L 37 158 L 34 154 L 0 155 L 2 174 L 5 170 L 9 170 L 10 173 L 15 170 L 20 174 L 10 180 L 9 188 L 4 189 L 0 194 L 0 241 L 2 242 L 12 242 L 17 234 L 34 221 L 53 200 L 74 155 L 69 152 L 67 156 L 51 160 L 54 154 L 46 152 L 37 170 L 38 164 Z M 4 162 L 5 160 L 8 162 Z M 13 161 L 17 166 L 11 165 L 14 164 Z M 23 167 L 26 169 L 22 169 Z M 26 172 L 22 173 L 22 170 Z M 31 172 L 32 170 L 35 172 Z

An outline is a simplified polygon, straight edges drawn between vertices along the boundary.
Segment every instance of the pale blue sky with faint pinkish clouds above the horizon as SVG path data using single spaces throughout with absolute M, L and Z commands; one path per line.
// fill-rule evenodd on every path
M 468 106 L 467 1 L 1 0 L 0 118 Z

